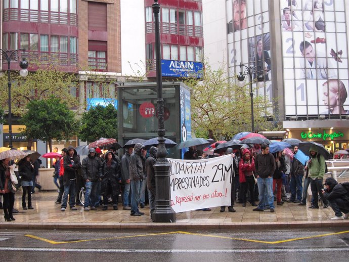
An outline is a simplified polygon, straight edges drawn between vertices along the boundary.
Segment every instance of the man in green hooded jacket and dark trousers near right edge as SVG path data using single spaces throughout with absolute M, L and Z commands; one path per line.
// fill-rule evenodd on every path
M 313 204 L 309 208 L 319 208 L 318 193 L 322 199 L 322 202 L 324 203 L 324 208 L 327 208 L 329 206 L 329 203 L 322 193 L 322 181 L 324 179 L 325 174 L 325 158 L 322 154 L 318 153 L 318 149 L 316 146 L 312 146 L 310 148 L 309 154 L 311 156 L 311 159 L 308 163 L 309 176 L 311 179 L 310 188 L 312 190 L 314 198 Z

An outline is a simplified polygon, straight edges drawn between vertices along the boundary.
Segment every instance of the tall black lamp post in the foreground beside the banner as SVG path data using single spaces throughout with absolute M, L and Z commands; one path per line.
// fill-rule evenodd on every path
M 176 213 L 171 207 L 170 195 L 170 164 L 167 161 L 167 151 L 165 148 L 165 123 L 162 98 L 162 75 L 161 75 L 161 53 L 160 53 L 160 30 L 159 30 L 159 12 L 160 5 L 158 0 L 154 0 L 152 5 L 155 19 L 155 55 L 156 55 L 156 84 L 157 84 L 157 111 L 158 111 L 158 129 L 157 136 L 159 146 L 157 150 L 157 160 L 154 164 L 155 170 L 155 210 L 151 215 L 154 222 L 174 222 Z

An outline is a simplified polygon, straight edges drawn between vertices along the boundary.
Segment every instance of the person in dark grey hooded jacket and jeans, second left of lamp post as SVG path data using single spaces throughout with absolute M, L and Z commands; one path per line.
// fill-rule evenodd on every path
M 143 181 L 143 162 L 142 149 L 143 144 L 137 143 L 134 152 L 129 157 L 129 180 L 131 182 L 131 215 L 140 216 L 144 212 L 138 209 L 138 202 L 140 201 L 141 182 Z

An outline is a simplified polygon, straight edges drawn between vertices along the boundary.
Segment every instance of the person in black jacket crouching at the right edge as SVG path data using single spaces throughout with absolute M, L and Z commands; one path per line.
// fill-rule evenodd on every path
M 323 194 L 335 214 L 331 220 L 349 219 L 349 192 L 343 184 L 338 184 L 333 178 L 327 178 L 325 181 L 326 189 L 323 190 Z

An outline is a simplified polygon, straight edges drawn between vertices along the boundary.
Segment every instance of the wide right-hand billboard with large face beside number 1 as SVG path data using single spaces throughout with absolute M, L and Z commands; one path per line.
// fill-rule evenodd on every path
M 280 0 L 280 7 L 285 114 L 349 114 L 344 0 Z

